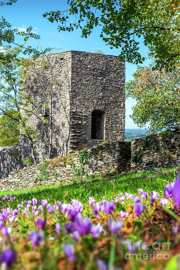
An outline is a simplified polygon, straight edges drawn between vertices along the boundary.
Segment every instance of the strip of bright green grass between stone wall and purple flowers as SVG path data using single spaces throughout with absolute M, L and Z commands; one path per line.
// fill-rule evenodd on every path
M 176 171 L 179 171 L 179 169 L 176 169 Z M 138 194 L 139 188 L 146 190 L 148 193 L 151 193 L 152 190 L 158 191 L 160 196 L 163 197 L 164 186 L 174 180 L 174 169 L 159 170 L 158 173 L 160 172 L 162 175 L 158 176 L 155 172 L 154 170 L 142 173 L 125 173 L 117 176 L 109 173 L 104 176 L 93 176 L 87 180 L 79 180 L 64 186 L 54 185 L 32 188 L 31 190 L 3 191 L 0 192 L 0 199 L 4 195 L 13 194 L 13 196 L 16 196 L 16 202 L 35 197 L 40 199 L 49 198 L 50 203 L 57 200 L 71 202 L 72 199 L 86 203 L 89 196 L 93 196 L 96 201 L 100 201 L 102 196 L 105 196 L 105 199 L 111 199 L 112 196 L 116 196 L 120 192 Z M 144 178 L 145 176 L 147 178 Z

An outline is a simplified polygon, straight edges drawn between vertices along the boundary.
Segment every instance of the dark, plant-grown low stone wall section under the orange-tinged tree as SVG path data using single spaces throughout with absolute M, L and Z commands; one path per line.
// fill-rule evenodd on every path
M 180 129 L 132 140 L 131 167 L 138 171 L 180 164 Z

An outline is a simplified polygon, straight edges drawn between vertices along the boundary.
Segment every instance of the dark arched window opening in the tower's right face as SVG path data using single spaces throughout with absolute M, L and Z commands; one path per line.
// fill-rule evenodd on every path
M 91 113 L 91 139 L 104 140 L 104 118 L 105 113 L 94 110 Z

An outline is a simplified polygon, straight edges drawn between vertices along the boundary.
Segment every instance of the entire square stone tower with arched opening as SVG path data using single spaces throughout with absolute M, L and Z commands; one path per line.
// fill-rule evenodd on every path
M 67 51 L 49 55 L 54 63 L 52 115 L 53 137 L 51 158 L 92 147 L 103 141 L 122 141 L 125 131 L 125 63 L 117 56 L 90 52 Z M 50 83 L 50 70 L 42 72 L 42 56 L 36 60 L 36 73 L 44 89 Z M 26 67 L 26 88 L 40 105 L 44 104 L 38 76 Z M 38 70 L 38 71 L 37 71 Z M 44 117 L 48 108 L 42 106 Z M 41 140 L 35 148 L 38 161 L 47 158 L 44 133 L 35 116 L 29 124 L 38 129 Z M 29 155 L 29 142 L 20 137 L 24 157 Z

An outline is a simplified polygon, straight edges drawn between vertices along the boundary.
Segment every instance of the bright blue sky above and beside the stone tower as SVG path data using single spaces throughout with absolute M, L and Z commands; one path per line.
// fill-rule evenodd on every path
M 23 31 L 27 27 L 32 26 L 34 33 L 40 35 L 40 43 L 43 48 L 55 47 L 61 49 L 61 51 L 77 50 L 86 52 L 94 52 L 95 50 L 100 49 L 103 50 L 105 54 L 119 55 L 120 53 L 120 49 L 110 49 L 110 46 L 105 45 L 102 38 L 99 37 L 101 33 L 100 28 L 95 28 L 93 33 L 85 39 L 80 37 L 80 30 L 74 30 L 73 32 L 58 32 L 58 23 L 51 23 L 42 16 L 45 12 L 67 10 L 67 0 L 18 0 L 12 6 L 0 8 L 1 15 L 13 28 L 19 28 L 19 30 Z M 17 41 L 20 41 L 18 36 Z M 140 53 L 143 56 L 147 56 L 148 50 L 143 45 L 143 39 L 139 39 L 139 42 Z M 29 45 L 37 47 L 38 41 L 31 39 Z M 143 65 L 148 64 L 149 60 L 145 60 Z M 136 70 L 136 67 L 135 64 L 126 63 L 126 81 L 133 78 L 132 73 Z M 132 113 L 131 108 L 135 104 L 136 102 L 132 98 L 126 100 L 125 128 L 138 128 L 129 117 Z

